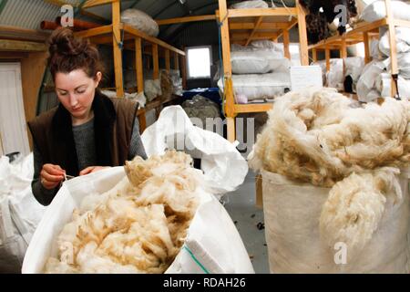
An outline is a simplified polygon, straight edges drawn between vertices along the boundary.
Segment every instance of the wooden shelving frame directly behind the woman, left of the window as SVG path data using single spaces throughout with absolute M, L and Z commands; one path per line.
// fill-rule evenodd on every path
M 114 56 L 114 71 L 115 71 L 115 85 L 117 96 L 124 97 L 123 86 L 123 64 L 122 64 L 122 49 L 130 49 L 135 51 L 135 61 L 137 70 L 137 86 L 138 92 L 144 91 L 144 77 L 143 77 L 143 54 L 148 54 L 152 57 L 153 64 L 153 78 L 159 78 L 159 57 L 165 58 L 165 69 L 169 70 L 171 67 L 179 69 L 179 62 L 185 64 L 185 52 L 177 47 L 172 47 L 159 38 L 148 36 L 138 29 L 121 23 L 121 8 L 118 0 L 87 0 L 82 5 L 82 11 L 87 11 L 87 8 L 97 5 L 111 5 L 112 6 L 112 24 L 108 26 L 99 26 L 84 31 L 75 33 L 76 36 L 88 37 L 91 42 L 100 45 L 112 45 Z M 173 58 L 173 62 L 171 62 Z M 183 67 L 183 66 L 182 66 Z M 182 78 L 185 79 L 185 70 L 181 69 Z M 156 100 L 147 104 L 145 109 L 138 110 L 138 120 L 140 130 L 145 130 L 146 120 L 145 112 L 151 108 L 155 109 L 161 104 Z

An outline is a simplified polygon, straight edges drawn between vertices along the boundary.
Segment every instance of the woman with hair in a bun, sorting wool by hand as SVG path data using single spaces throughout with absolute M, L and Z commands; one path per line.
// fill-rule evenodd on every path
M 108 99 L 97 89 L 102 66 L 96 47 L 71 30 L 56 30 L 49 41 L 48 63 L 59 105 L 28 123 L 34 141 L 32 190 L 39 203 L 51 203 L 65 175 L 97 172 L 123 165 L 142 145 L 137 105 Z

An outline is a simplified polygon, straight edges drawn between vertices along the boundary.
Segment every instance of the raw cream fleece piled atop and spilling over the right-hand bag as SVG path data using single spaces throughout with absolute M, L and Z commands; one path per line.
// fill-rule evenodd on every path
M 277 99 L 249 163 L 299 182 L 333 187 L 320 227 L 349 257 L 371 239 L 389 197 L 401 203 L 395 174 L 410 160 L 410 104 L 360 104 L 333 89 L 306 89 Z

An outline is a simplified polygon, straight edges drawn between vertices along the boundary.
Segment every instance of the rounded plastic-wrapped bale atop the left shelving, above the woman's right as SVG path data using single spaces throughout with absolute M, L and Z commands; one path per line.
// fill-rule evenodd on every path
M 159 26 L 151 16 L 138 9 L 127 9 L 121 13 L 121 22 L 137 28 L 149 36 L 159 35 Z

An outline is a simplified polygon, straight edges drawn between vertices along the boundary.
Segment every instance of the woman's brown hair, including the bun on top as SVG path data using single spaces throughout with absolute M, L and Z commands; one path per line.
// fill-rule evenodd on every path
M 56 73 L 69 73 L 83 69 L 89 78 L 95 78 L 97 72 L 103 72 L 97 47 L 88 39 L 75 37 L 68 28 L 56 29 L 48 41 L 50 67 L 53 79 Z

